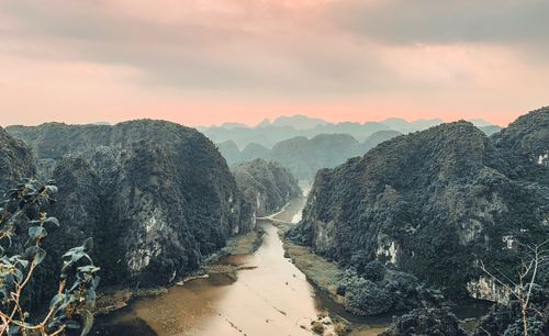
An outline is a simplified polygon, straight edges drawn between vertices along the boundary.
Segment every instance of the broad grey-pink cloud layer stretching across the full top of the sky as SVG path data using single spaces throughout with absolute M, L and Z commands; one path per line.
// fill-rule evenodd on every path
M 536 0 L 7 0 L 0 13 L 12 25 L 0 37 L 20 56 L 133 67 L 149 89 L 350 98 L 410 86 L 391 61 L 395 48 L 413 58 L 425 55 L 418 44 L 544 46 L 546 9 Z M 474 80 L 478 67 L 450 58 L 447 74 L 422 67 L 413 90 Z

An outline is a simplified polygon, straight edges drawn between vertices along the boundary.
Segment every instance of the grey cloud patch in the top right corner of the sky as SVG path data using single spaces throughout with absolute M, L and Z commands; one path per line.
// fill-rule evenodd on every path
M 531 44 L 547 47 L 545 0 L 348 0 L 333 2 L 337 25 L 393 44 Z

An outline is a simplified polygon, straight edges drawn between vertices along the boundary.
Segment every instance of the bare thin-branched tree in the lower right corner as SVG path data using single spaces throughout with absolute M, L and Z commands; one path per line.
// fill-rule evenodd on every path
M 538 287 L 536 283 L 537 277 L 547 267 L 547 262 L 549 261 L 549 250 L 546 248 L 548 243 L 549 239 L 534 245 L 518 244 L 524 250 L 524 257 L 520 258 L 520 265 L 517 268 L 515 279 L 511 279 L 497 268 L 493 268 L 491 271 L 482 260 L 480 262 L 482 271 L 502 285 L 512 296 L 511 299 L 514 298 L 518 301 L 520 305 L 522 332 L 525 336 L 528 336 L 528 332 L 531 329 L 533 316 L 538 316 L 542 320 L 547 318 L 544 310 L 533 303 L 533 294 L 535 288 Z

